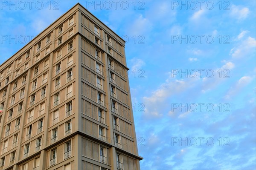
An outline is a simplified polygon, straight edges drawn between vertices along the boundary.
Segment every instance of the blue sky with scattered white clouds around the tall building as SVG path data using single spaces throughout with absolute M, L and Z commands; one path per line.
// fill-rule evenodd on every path
M 1 1 L 0 64 L 78 2 L 126 40 L 141 170 L 256 169 L 256 1 Z

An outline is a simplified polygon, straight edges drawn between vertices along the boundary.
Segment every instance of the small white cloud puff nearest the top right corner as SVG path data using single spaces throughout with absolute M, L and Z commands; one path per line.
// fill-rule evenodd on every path
M 230 15 L 237 20 L 244 20 L 247 18 L 250 10 L 247 7 L 235 6 L 232 5 L 230 8 Z

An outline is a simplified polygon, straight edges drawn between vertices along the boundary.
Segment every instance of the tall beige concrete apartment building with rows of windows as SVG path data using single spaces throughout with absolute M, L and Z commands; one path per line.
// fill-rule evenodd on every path
M 79 3 L 0 66 L 0 170 L 140 169 L 125 41 Z

